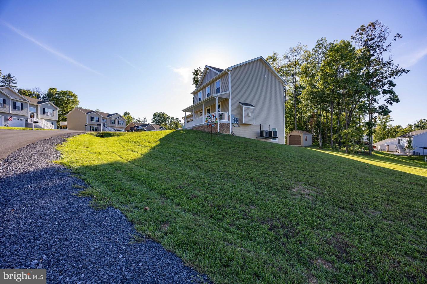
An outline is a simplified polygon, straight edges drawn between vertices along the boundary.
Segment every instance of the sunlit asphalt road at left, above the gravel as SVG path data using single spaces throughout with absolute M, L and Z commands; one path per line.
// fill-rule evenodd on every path
M 9 130 L 0 129 L 0 160 L 3 160 L 10 153 L 35 143 L 39 140 L 51 138 L 64 133 L 79 133 L 83 131 L 75 130 Z

